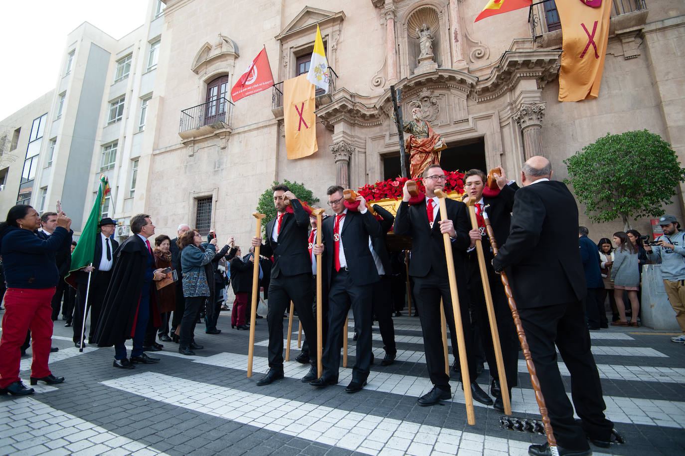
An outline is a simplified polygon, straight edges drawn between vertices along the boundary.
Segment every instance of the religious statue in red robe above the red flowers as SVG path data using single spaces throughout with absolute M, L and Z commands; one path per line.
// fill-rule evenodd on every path
M 440 164 L 440 151 L 447 149 L 443 137 L 436 134 L 427 121 L 421 119 L 421 103 L 414 101 L 412 121 L 403 122 L 402 129 L 409 136 L 404 139 L 404 148 L 409 154 L 409 174 L 412 179 L 420 179 L 423 171 L 432 164 Z M 402 105 L 401 101 L 397 106 Z M 393 121 L 395 114 L 393 114 Z

